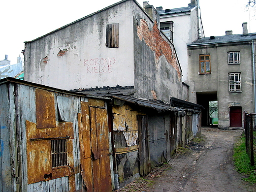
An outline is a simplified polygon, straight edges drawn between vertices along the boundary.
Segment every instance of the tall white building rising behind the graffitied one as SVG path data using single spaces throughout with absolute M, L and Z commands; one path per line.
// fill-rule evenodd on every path
M 148 4 L 147 1 L 144 4 Z M 171 6 L 171 3 L 170 3 Z M 187 44 L 204 37 L 198 0 L 191 0 L 187 7 L 157 7 L 160 30 L 173 42 L 182 67 L 182 81 L 188 81 Z

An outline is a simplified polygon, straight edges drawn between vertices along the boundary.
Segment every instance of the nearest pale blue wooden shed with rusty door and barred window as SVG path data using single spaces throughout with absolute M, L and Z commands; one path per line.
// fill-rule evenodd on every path
M 0 81 L 1 192 L 111 192 L 106 101 Z

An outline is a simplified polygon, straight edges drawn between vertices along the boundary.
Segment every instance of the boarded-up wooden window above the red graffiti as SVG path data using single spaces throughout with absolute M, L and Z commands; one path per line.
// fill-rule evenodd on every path
M 108 48 L 119 47 L 119 24 L 118 23 L 107 25 L 106 46 Z

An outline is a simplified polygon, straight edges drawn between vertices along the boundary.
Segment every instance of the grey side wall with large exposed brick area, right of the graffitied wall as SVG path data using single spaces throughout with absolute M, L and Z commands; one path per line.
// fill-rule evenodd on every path
M 138 98 L 169 102 L 170 96 L 184 98 L 181 68 L 174 45 L 160 32 L 159 15 L 153 18 L 134 13 L 134 87 Z M 137 15 L 141 14 L 138 18 Z M 186 89 L 185 89 L 186 91 Z M 186 94 L 185 94 L 186 95 Z M 155 96 L 155 97 L 154 97 Z

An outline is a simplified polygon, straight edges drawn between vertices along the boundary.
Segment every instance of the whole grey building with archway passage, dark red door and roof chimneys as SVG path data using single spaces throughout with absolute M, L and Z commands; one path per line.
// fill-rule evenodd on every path
M 188 44 L 190 101 L 204 106 L 202 125 L 209 122 L 209 101 L 218 101 L 219 128 L 243 127 L 243 111 L 255 111 L 255 33 L 226 31 Z

